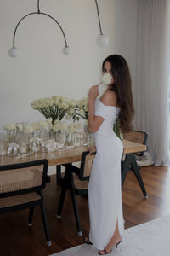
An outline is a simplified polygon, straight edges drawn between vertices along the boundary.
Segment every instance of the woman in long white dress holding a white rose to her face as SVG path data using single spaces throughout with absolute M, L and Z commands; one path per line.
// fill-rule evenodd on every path
M 88 93 L 88 129 L 94 133 L 96 156 L 88 185 L 90 216 L 89 238 L 99 255 L 111 253 L 122 241 L 121 160 L 122 142 L 113 132 L 116 118 L 122 133 L 132 130 L 134 116 L 131 76 L 121 55 L 110 55 L 103 62 L 103 73 L 111 74 L 111 83 L 101 98 L 98 86 Z M 90 153 L 94 148 L 90 149 Z

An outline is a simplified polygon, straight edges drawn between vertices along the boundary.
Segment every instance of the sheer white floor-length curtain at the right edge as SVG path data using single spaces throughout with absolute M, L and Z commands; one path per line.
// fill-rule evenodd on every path
M 168 154 L 169 1 L 139 0 L 135 128 L 149 132 L 156 166 L 170 164 Z

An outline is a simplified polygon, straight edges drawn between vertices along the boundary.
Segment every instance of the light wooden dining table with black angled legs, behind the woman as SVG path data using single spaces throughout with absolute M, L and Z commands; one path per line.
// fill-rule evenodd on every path
M 144 197 L 147 197 L 147 193 L 144 188 L 144 183 L 140 175 L 140 167 L 137 165 L 134 154 L 137 152 L 144 152 L 147 150 L 146 145 L 140 143 L 133 143 L 127 140 L 123 140 L 123 154 L 125 160 L 122 160 L 122 186 L 125 182 L 127 172 L 133 171 L 139 182 L 140 188 L 143 191 Z M 0 156 L 0 166 L 12 165 L 16 163 L 28 162 L 33 160 L 47 159 L 48 166 L 60 166 L 62 164 L 74 163 L 80 161 L 82 158 L 82 152 L 87 151 L 88 146 L 79 146 L 75 148 L 65 147 L 54 152 L 48 152 L 47 150 L 40 150 L 31 154 L 22 154 L 18 156 Z

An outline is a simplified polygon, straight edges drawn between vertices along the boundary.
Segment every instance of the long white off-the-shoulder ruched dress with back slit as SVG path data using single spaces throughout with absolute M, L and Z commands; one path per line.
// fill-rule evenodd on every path
M 121 160 L 122 141 L 113 131 L 119 108 L 95 102 L 95 115 L 103 117 L 99 130 L 94 133 L 96 155 L 88 183 L 90 218 L 89 240 L 103 250 L 118 228 L 123 235 Z

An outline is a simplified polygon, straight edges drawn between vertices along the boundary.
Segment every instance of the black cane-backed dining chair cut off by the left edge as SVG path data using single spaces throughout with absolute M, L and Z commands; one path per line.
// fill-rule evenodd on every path
M 34 207 L 40 206 L 47 239 L 51 245 L 42 189 L 50 181 L 48 160 L 35 160 L 0 166 L 0 213 L 29 208 L 28 226 L 32 225 Z

